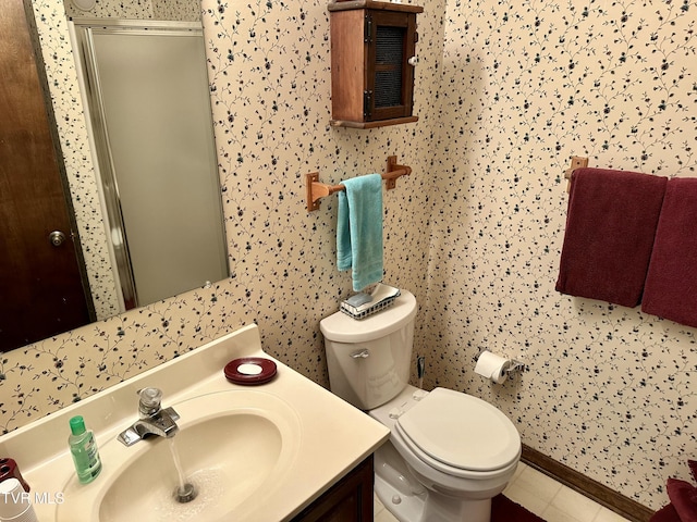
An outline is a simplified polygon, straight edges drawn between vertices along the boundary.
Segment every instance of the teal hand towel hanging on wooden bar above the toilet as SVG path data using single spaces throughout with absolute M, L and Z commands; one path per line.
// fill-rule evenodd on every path
M 353 289 L 382 281 L 382 176 L 342 182 L 337 222 L 337 266 L 352 269 Z

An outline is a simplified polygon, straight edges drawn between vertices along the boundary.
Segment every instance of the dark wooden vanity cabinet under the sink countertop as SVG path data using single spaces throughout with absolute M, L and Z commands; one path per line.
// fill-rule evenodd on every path
M 372 522 L 372 455 L 356 465 L 293 522 Z

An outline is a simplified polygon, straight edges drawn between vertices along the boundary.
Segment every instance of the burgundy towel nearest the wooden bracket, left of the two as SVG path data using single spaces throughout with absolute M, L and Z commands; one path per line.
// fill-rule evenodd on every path
M 667 182 L 638 172 L 575 170 L 557 290 L 636 307 Z

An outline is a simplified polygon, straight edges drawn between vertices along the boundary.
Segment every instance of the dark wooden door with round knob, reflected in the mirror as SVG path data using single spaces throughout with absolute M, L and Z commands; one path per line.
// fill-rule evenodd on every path
M 0 2 L 1 351 L 90 320 L 27 8 Z M 65 236 L 59 246 L 54 231 Z

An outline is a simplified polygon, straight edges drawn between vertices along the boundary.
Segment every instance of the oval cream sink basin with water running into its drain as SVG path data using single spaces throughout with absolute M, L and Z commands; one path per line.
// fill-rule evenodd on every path
M 102 461 L 119 464 L 105 465 L 86 486 L 72 478 L 65 498 L 85 498 L 59 506 L 58 521 L 235 520 L 269 498 L 291 469 L 299 422 L 278 397 L 232 390 L 172 406 L 181 417 L 180 432 L 131 447 L 115 439 L 102 444 Z M 185 482 L 197 492 L 185 504 L 174 495 L 180 484 L 175 455 Z

